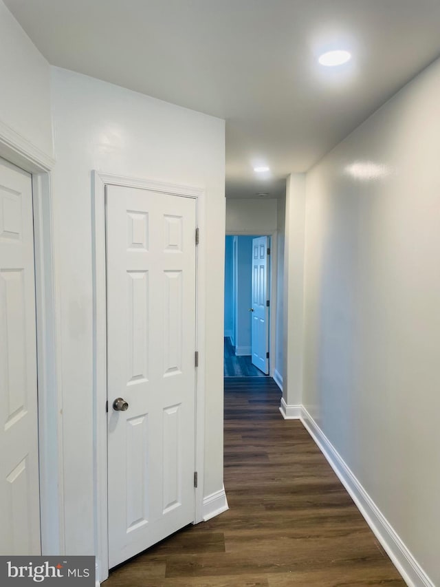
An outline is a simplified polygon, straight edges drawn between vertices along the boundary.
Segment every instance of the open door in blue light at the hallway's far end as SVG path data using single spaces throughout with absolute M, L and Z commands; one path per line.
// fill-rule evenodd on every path
M 252 364 L 269 374 L 269 237 L 252 239 Z

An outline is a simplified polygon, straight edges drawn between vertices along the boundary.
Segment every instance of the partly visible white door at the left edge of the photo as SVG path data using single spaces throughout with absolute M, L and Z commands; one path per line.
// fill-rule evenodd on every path
M 0 160 L 0 555 L 40 540 L 32 178 Z

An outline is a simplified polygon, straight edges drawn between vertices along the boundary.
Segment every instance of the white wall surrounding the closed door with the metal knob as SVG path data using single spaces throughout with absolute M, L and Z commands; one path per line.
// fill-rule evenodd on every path
M 54 68 L 54 224 L 61 293 L 65 529 L 69 554 L 94 552 L 91 171 L 206 190 L 206 468 L 223 485 L 224 122 Z

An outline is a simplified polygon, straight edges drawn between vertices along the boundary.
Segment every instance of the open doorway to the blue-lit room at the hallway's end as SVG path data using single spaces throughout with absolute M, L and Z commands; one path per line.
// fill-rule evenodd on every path
M 225 377 L 270 374 L 270 236 L 225 237 Z

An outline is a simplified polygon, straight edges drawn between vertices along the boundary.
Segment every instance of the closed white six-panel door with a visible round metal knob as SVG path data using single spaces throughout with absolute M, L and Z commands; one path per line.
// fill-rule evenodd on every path
M 111 568 L 194 520 L 196 204 L 106 193 Z

